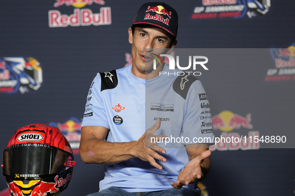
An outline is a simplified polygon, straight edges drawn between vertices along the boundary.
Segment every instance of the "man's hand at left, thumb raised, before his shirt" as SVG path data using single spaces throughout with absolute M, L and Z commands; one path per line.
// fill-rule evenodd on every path
M 160 161 L 166 162 L 166 158 L 159 155 L 157 152 L 161 152 L 163 154 L 166 153 L 164 148 L 161 148 L 156 143 L 151 142 L 151 138 L 156 138 L 158 140 L 165 140 L 167 136 L 165 135 L 154 135 L 156 130 L 160 128 L 161 120 L 160 118 L 157 119 L 157 122 L 154 126 L 146 130 L 146 132 L 135 142 L 134 156 L 140 158 L 143 161 L 148 161 L 152 166 L 155 168 L 162 170 L 163 167 L 160 166 L 155 159 Z M 158 138 L 158 139 L 157 139 Z M 154 139 L 153 139 L 154 140 Z

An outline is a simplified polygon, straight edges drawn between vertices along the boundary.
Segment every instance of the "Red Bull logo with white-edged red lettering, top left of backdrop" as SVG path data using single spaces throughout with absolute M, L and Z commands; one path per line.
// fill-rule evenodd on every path
M 56 0 L 54 7 L 73 6 L 73 13 L 70 15 L 62 14 L 60 10 L 48 11 L 49 27 L 67 26 L 89 26 L 89 25 L 109 25 L 111 21 L 111 8 L 100 7 L 99 13 L 93 12 L 93 4 L 104 5 L 104 0 Z M 92 9 L 82 8 L 91 5 Z

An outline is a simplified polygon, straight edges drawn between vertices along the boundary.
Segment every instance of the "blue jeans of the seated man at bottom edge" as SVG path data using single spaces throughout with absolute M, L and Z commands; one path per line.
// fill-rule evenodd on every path
M 200 196 L 200 195 L 186 188 L 181 188 L 180 190 L 173 188 L 173 189 L 167 189 L 163 191 L 129 193 L 129 192 L 123 191 L 120 188 L 111 187 L 106 190 L 103 190 L 102 192 L 89 194 L 87 196 Z

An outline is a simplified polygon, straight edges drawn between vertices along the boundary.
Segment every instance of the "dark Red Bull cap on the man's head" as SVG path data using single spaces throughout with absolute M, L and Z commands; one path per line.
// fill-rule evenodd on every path
M 136 24 L 151 24 L 165 29 L 176 37 L 178 14 L 173 7 L 164 2 L 147 2 L 138 9 L 132 26 Z

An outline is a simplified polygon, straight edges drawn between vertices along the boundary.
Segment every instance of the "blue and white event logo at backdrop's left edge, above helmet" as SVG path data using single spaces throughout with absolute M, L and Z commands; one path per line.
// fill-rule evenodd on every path
M 0 93 L 14 94 L 36 91 L 43 82 L 40 63 L 32 58 L 0 58 Z

